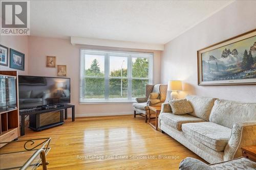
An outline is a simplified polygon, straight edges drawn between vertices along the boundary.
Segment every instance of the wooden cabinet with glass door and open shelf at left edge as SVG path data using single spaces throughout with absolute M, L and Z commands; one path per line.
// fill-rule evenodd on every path
M 18 75 L 17 71 L 0 71 L 0 76 L 12 78 L 13 81 L 1 84 L 0 142 L 8 142 L 19 136 Z M 10 100 L 11 97 L 15 99 Z M 5 107 L 10 101 L 11 107 Z M 4 145 L 0 144 L 0 148 Z

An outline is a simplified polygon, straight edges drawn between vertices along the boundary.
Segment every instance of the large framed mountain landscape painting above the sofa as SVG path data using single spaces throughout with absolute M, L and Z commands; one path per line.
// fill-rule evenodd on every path
M 197 54 L 198 85 L 256 84 L 256 29 Z

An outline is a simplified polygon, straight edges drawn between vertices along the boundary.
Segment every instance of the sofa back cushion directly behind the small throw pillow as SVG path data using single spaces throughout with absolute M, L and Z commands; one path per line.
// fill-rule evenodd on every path
M 215 98 L 203 98 L 197 95 L 187 95 L 186 99 L 194 110 L 189 113 L 190 115 L 209 121 L 210 112 L 214 106 L 214 101 L 216 100 Z

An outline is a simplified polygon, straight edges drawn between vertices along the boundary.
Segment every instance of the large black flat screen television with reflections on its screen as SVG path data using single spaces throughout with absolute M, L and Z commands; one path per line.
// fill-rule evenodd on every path
M 18 76 L 19 109 L 70 103 L 70 78 Z

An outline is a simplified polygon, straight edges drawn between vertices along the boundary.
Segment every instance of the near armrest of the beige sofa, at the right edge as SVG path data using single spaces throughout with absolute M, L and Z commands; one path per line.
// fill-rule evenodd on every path
M 256 120 L 236 123 L 224 150 L 224 161 L 242 156 L 241 147 L 256 144 Z

